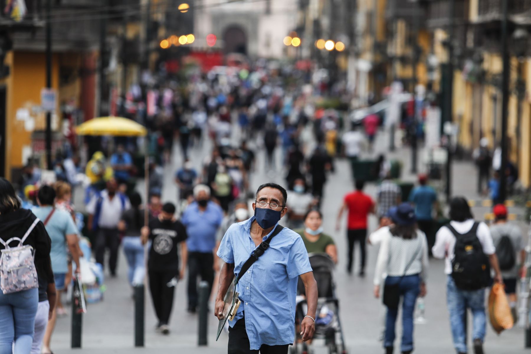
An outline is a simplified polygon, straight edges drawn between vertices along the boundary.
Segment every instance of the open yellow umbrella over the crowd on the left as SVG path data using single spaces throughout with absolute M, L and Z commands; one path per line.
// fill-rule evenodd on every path
M 78 135 L 145 136 L 148 131 L 134 120 L 123 117 L 99 117 L 77 126 Z

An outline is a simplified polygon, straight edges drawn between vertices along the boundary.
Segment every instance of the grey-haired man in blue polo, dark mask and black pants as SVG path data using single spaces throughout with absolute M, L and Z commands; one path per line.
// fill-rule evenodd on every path
M 197 278 L 209 284 L 209 293 L 217 267 L 214 255 L 217 251 L 216 235 L 223 221 L 221 207 L 210 201 L 210 188 L 203 184 L 194 188 L 195 202 L 183 213 L 181 222 L 186 227 L 188 248 L 188 312 L 195 313 L 198 306 Z

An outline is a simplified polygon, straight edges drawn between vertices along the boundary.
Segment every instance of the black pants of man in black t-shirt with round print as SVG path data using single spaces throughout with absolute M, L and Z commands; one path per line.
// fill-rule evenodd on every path
M 151 291 L 155 314 L 157 315 L 159 324 L 168 324 L 169 316 L 172 314 L 173 295 L 175 292 L 175 286 L 168 287 L 168 283 L 177 276 L 178 271 L 149 270 L 148 274 L 149 290 Z

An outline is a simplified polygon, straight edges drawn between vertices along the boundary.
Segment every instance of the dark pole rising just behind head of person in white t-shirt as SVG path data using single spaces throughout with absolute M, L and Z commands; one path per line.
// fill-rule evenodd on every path
M 444 123 L 452 123 L 452 99 L 453 99 L 453 36 L 455 30 L 455 8 L 456 0 L 450 0 L 449 6 L 449 19 L 448 19 L 448 66 L 447 66 L 447 91 L 444 95 L 446 99 L 446 105 L 444 109 Z M 446 200 L 450 201 L 452 195 L 452 144 L 451 144 L 451 133 L 448 132 L 446 142 L 447 148 L 447 161 L 446 161 Z

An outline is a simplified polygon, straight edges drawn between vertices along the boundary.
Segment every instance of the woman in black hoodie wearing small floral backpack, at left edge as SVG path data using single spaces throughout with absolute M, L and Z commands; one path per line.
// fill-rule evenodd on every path
M 18 239 L 13 240 L 13 237 Z M 5 252 L 7 248 L 11 248 L 12 254 L 27 251 L 18 248 L 19 239 L 20 246 L 33 248 L 35 259 L 33 264 L 25 264 L 19 272 L 10 271 L 14 266 L 10 265 L 11 262 L 2 261 L 0 266 L 0 353 L 31 351 L 39 302 L 37 276 L 42 282 L 54 283 L 50 261 L 51 241 L 44 225 L 31 211 L 21 208 L 20 199 L 11 183 L 0 177 L 0 251 L 4 251 L 4 260 L 8 255 Z M 8 277 L 10 284 L 25 290 L 16 291 L 12 286 L 7 286 L 5 279 Z

